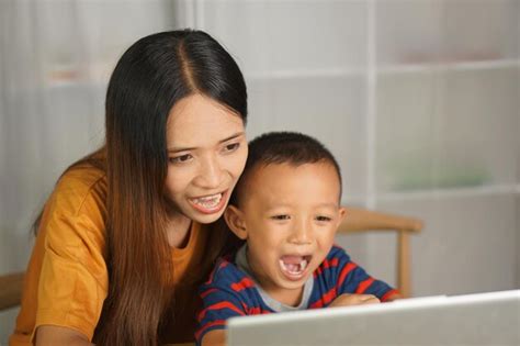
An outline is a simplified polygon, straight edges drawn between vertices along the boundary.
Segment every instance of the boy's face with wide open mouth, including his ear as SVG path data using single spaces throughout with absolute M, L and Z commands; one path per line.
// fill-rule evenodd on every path
M 271 164 L 255 168 L 242 189 L 240 210 L 230 207 L 226 221 L 247 239 L 262 288 L 291 302 L 329 253 L 344 216 L 338 175 L 329 163 Z

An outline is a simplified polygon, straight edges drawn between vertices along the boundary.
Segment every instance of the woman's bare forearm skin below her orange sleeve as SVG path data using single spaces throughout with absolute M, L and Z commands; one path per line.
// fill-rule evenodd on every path
M 91 346 L 87 336 L 71 328 L 42 325 L 34 336 L 34 344 L 36 346 Z

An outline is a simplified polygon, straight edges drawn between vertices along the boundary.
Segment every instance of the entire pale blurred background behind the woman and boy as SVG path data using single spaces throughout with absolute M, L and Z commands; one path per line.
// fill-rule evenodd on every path
M 207 31 L 249 88 L 249 138 L 321 139 L 348 205 L 411 215 L 412 294 L 520 288 L 520 1 L 0 0 L 0 275 L 25 269 L 60 172 L 99 147 L 121 54 Z M 338 237 L 395 283 L 395 237 Z M 0 314 L 5 343 L 18 310 Z

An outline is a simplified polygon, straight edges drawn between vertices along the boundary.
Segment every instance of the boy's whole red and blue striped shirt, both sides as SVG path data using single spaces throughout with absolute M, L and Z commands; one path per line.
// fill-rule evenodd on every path
M 304 308 L 326 308 L 343 293 L 374 294 L 385 301 L 397 291 L 370 277 L 341 247 L 332 246 L 314 271 L 312 293 Z M 201 286 L 200 295 L 203 304 L 197 315 L 197 345 L 205 333 L 225 328 L 229 317 L 278 312 L 264 302 L 257 283 L 235 260 L 221 258 L 210 279 Z

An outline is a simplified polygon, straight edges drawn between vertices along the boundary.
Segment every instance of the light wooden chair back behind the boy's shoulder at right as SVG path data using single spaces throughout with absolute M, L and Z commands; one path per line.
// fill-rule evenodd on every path
M 414 217 L 347 208 L 347 217 L 338 228 L 338 234 L 372 231 L 396 232 L 397 239 L 397 289 L 404 298 L 411 297 L 410 234 L 422 230 L 422 221 Z

